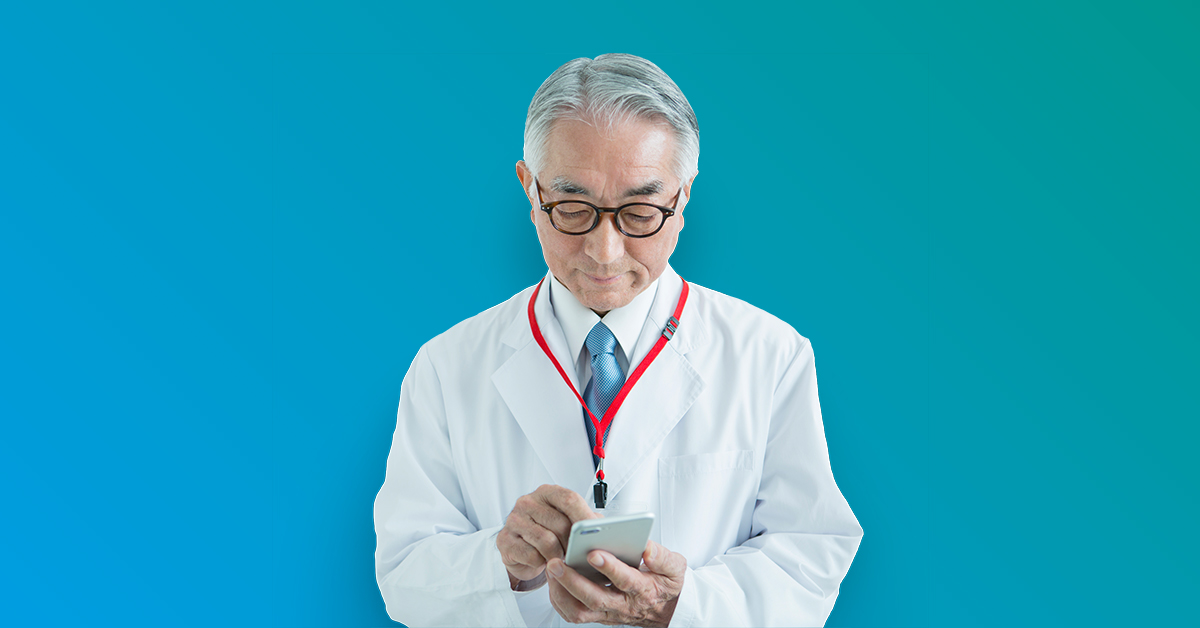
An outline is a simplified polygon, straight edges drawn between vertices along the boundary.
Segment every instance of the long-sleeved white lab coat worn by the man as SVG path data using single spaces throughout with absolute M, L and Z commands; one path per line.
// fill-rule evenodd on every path
M 610 513 L 653 512 L 652 538 L 688 558 L 672 626 L 821 626 L 863 530 L 829 468 L 811 346 L 690 287 L 678 333 L 613 420 Z M 659 336 L 680 288 L 667 268 L 638 346 Z M 394 620 L 565 626 L 547 586 L 509 590 L 496 548 L 517 497 L 558 484 L 590 504 L 595 482 L 580 403 L 529 330 L 532 292 L 434 337 L 404 376 L 374 504 Z M 534 311 L 574 379 L 545 286 Z

